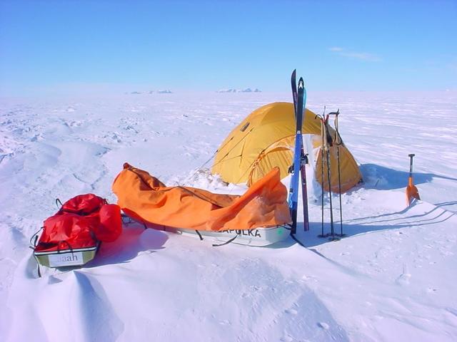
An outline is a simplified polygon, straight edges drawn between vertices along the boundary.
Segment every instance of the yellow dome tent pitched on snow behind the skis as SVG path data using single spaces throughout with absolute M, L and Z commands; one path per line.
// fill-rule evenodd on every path
M 275 166 L 279 167 L 281 179 L 286 177 L 292 164 L 295 125 L 292 103 L 270 103 L 254 110 L 222 142 L 211 172 L 220 175 L 226 182 L 247 182 L 248 185 L 259 180 Z M 313 137 L 313 152 L 316 153 L 314 170 L 316 180 L 321 182 L 321 121 L 308 109 L 303 118 L 302 133 Z M 332 137 L 335 135 L 331 128 L 330 134 Z M 356 161 L 344 144 L 339 146 L 339 154 L 341 192 L 346 192 L 360 182 L 362 177 Z M 336 145 L 330 148 L 330 157 L 331 190 L 338 192 Z M 326 177 L 323 185 L 328 191 Z

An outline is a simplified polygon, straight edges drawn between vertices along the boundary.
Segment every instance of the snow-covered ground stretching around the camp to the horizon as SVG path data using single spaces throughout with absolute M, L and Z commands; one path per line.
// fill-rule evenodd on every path
M 116 202 L 123 162 L 167 185 L 245 191 L 209 175 L 211 162 L 196 170 L 246 115 L 280 100 L 291 95 L 1 98 L 0 340 L 456 341 L 455 92 L 308 90 L 316 113 L 340 108 L 365 180 L 342 197 L 341 241 L 316 237 L 310 182 L 311 231 L 298 229 L 308 248 L 211 247 L 130 224 L 86 266 L 37 277 L 29 238 L 54 200 L 93 192 Z M 408 153 L 423 201 L 407 208 Z

